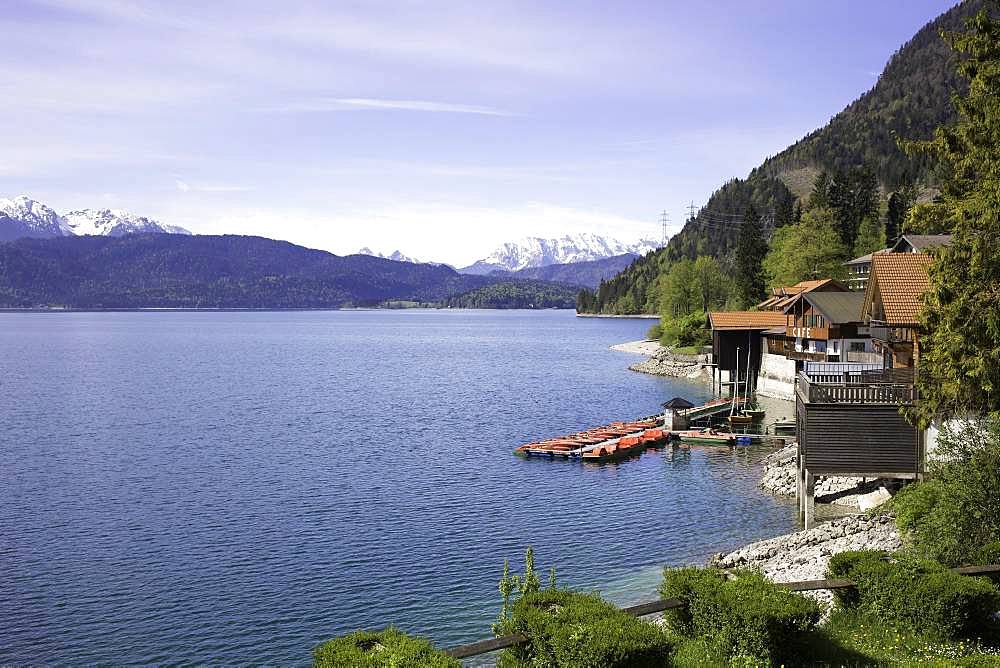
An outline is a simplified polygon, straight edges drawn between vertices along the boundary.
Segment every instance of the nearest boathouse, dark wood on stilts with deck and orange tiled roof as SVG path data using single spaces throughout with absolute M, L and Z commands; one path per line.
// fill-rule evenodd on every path
M 918 399 L 919 311 L 932 258 L 922 253 L 876 253 L 865 291 L 867 322 L 878 365 L 807 365 L 797 374 L 799 511 L 813 521 L 815 478 L 918 479 L 924 471 L 924 433 L 900 409 Z

